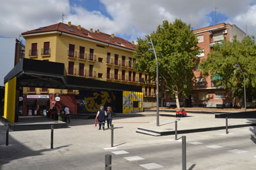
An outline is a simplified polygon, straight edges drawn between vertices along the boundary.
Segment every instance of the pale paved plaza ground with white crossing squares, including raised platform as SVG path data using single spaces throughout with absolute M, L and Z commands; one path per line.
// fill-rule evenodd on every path
M 148 115 L 147 115 L 148 114 Z M 167 114 L 167 115 L 166 115 Z M 161 113 L 161 129 L 174 129 L 175 117 Z M 189 114 L 180 118 L 179 129 L 225 125 L 214 114 Z M 229 124 L 246 124 L 254 119 L 228 119 Z M 6 127 L 0 124 L 0 169 L 104 169 L 105 155 L 112 155 L 112 169 L 182 169 L 182 142 L 186 136 L 187 169 L 255 169 L 255 127 L 196 132 L 175 136 L 148 136 L 136 133 L 138 127 L 156 127 L 156 116 L 113 119 L 111 131 L 98 130 L 95 120 L 72 119 L 67 129 L 10 132 L 5 146 Z

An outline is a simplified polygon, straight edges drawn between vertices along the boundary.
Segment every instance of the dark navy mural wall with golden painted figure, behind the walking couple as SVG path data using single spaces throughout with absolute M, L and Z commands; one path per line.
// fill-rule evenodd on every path
M 79 113 L 95 113 L 100 106 L 116 108 L 116 92 L 106 91 L 79 91 Z

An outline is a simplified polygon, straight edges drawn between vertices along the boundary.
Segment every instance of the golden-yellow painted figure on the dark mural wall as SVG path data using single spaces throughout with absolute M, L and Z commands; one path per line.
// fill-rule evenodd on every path
M 101 103 L 95 103 L 95 100 L 99 97 L 101 98 Z M 114 99 L 115 100 L 115 99 Z M 106 102 L 111 103 L 111 98 L 109 97 L 108 92 L 94 92 L 93 97 L 84 97 L 84 107 L 86 108 L 87 111 L 90 112 L 95 112 L 100 109 L 100 106 L 104 106 Z

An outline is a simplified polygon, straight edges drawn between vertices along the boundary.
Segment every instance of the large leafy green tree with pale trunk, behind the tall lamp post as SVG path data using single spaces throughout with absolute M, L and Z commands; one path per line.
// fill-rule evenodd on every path
M 152 38 L 156 50 L 159 81 L 164 87 L 175 94 L 177 108 L 179 95 L 188 96 L 193 87 L 193 67 L 195 67 L 198 51 L 198 39 L 190 25 L 176 19 L 173 23 L 167 20 L 157 27 L 157 30 L 147 35 L 145 39 L 138 38 L 134 57 L 137 71 L 147 71 L 150 80 L 156 80 L 156 59 L 149 52 L 147 42 Z

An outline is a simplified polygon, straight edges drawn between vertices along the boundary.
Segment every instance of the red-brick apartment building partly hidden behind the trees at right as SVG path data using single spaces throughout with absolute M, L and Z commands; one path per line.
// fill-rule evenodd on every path
M 234 104 L 236 102 L 232 99 L 232 92 L 223 89 L 223 87 L 216 87 L 216 85 L 214 85 L 214 80 L 219 77 L 214 75 L 203 77 L 202 71 L 198 69 L 198 64 L 202 59 L 207 59 L 207 54 L 211 52 L 212 47 L 217 43 L 221 45 L 224 39 L 232 41 L 235 35 L 237 39 L 241 41 L 246 36 L 246 33 L 234 24 L 230 25 L 225 23 L 196 29 L 193 32 L 198 38 L 198 46 L 202 53 L 198 55 L 196 68 L 194 70 L 196 83 L 193 92 L 191 92 L 189 96 L 191 97 L 189 101 L 191 101 L 194 106 L 223 107 L 225 104 L 232 106 L 232 103 Z

